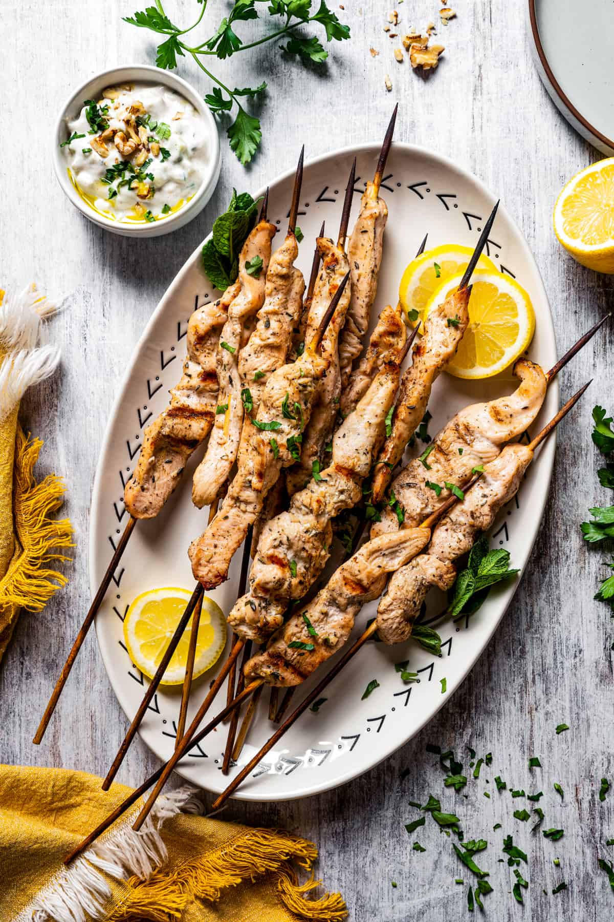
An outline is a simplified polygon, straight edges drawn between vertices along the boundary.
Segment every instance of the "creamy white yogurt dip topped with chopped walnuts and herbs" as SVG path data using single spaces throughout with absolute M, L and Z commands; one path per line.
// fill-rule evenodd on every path
M 84 100 L 63 148 L 77 193 L 123 223 L 163 220 L 198 191 L 212 158 L 209 126 L 168 87 L 122 84 Z

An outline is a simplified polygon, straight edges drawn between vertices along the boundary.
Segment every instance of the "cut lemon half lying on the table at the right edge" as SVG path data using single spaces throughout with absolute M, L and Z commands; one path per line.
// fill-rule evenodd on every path
M 614 157 L 598 160 L 563 187 L 554 233 L 583 266 L 614 273 Z

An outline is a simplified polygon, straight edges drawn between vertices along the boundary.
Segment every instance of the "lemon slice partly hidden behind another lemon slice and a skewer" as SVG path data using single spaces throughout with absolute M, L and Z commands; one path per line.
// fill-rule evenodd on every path
M 424 309 L 434 290 L 450 276 L 464 272 L 472 253 L 470 246 L 447 243 L 444 246 L 435 246 L 432 250 L 426 250 L 425 253 L 416 256 L 411 261 L 403 272 L 399 286 L 400 305 L 411 324 L 418 323 L 416 311 L 420 319 L 424 319 Z M 484 254 L 481 254 L 478 266 L 496 272 L 496 266 Z

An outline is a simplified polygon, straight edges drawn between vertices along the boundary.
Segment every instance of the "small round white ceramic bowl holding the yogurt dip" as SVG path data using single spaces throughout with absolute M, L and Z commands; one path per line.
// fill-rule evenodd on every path
M 168 89 L 174 89 L 186 100 L 191 102 L 192 106 L 202 116 L 205 123 L 209 126 L 211 137 L 211 160 L 206 174 L 203 176 L 198 191 L 191 197 L 187 205 L 180 208 L 179 211 L 163 221 L 152 223 L 134 224 L 128 222 L 114 221 L 98 214 L 93 208 L 87 205 L 80 195 L 77 194 L 73 183 L 66 170 L 66 160 L 64 159 L 64 148 L 60 147 L 62 141 L 67 137 L 67 122 L 75 119 L 83 108 L 83 100 L 98 99 L 99 94 L 106 87 L 118 83 L 154 83 L 162 84 Z M 105 70 L 95 77 L 90 77 L 86 83 L 75 89 L 70 98 L 64 104 L 59 118 L 55 124 L 53 132 L 53 166 L 58 182 L 62 186 L 64 193 L 71 200 L 73 205 L 86 216 L 87 219 L 98 224 L 98 227 L 105 228 L 107 231 L 122 234 L 124 237 L 159 237 L 169 231 L 176 231 L 183 227 L 192 218 L 195 218 L 203 207 L 207 204 L 214 194 L 214 188 L 220 175 L 220 142 L 217 134 L 217 125 L 214 117 L 209 112 L 202 97 L 198 95 L 195 89 L 192 89 L 189 83 L 170 73 L 168 70 L 160 70 L 159 67 L 150 65 L 126 65 L 124 67 L 113 67 Z

